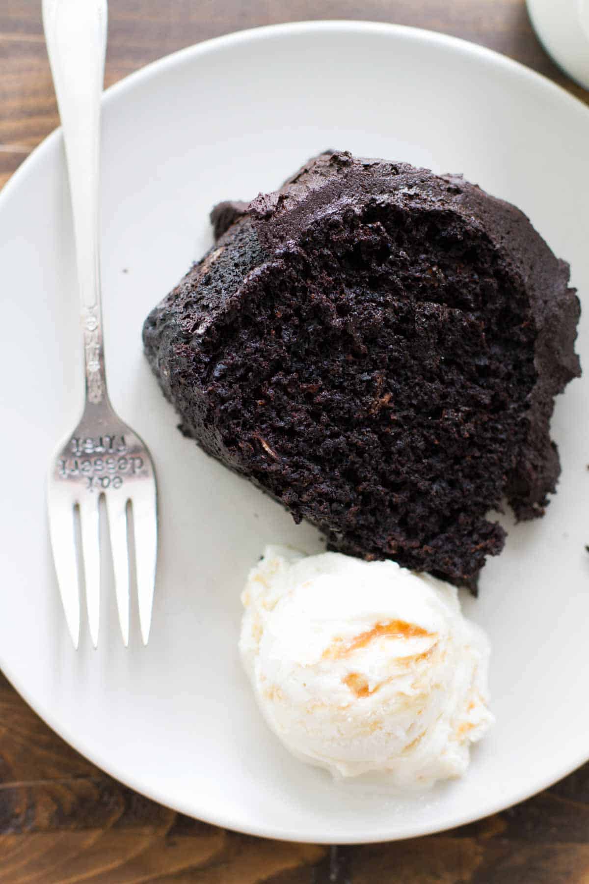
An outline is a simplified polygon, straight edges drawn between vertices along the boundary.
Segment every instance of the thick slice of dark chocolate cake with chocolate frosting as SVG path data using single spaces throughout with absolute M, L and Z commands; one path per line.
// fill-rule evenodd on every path
M 462 177 L 349 153 L 212 221 L 143 329 L 182 431 L 332 549 L 473 587 L 503 545 L 488 511 L 555 491 L 568 264 Z

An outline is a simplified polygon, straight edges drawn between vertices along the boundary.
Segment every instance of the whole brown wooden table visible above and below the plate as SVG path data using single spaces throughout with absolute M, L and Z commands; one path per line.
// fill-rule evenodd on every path
M 0 185 L 57 126 L 39 0 L 0 4 Z M 524 0 L 110 0 L 107 84 L 191 43 L 300 19 L 427 27 L 575 86 Z M 6 296 L 6 293 L 4 293 Z M 102 773 L 0 674 L 0 884 L 587 884 L 589 765 L 509 811 L 427 838 L 351 848 L 270 842 L 188 819 Z

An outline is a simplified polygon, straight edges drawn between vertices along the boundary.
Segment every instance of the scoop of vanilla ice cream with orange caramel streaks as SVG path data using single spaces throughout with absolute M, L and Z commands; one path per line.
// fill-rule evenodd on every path
M 268 546 L 242 601 L 245 669 L 297 758 L 399 789 L 464 773 L 493 716 L 487 637 L 454 586 L 393 561 Z

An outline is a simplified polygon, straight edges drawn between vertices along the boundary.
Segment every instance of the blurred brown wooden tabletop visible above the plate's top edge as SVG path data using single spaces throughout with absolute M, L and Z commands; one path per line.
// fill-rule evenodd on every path
M 174 50 L 245 27 L 302 19 L 371 19 L 427 27 L 502 52 L 544 73 L 589 103 L 536 40 L 524 0 L 118 0 L 110 4 L 106 83 Z M 26 153 L 57 126 L 38 0 L 0 8 L 0 186 Z M 5 72 L 5 73 L 4 73 Z

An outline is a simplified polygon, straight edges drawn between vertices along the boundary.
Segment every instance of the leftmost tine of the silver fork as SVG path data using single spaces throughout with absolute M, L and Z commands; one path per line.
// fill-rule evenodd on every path
M 49 510 L 49 537 L 53 551 L 57 585 L 64 606 L 65 621 L 72 636 L 73 646 L 79 644 L 79 583 L 78 560 L 74 535 L 73 507 L 71 503 L 60 507 L 52 502 Z

